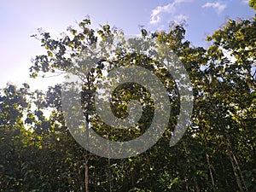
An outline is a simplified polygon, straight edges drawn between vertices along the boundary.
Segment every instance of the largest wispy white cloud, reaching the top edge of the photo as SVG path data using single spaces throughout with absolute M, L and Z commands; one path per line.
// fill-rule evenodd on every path
M 180 3 L 186 3 L 191 2 L 191 0 L 174 0 L 173 3 L 169 3 L 166 6 L 158 6 L 155 9 L 152 10 L 151 18 L 150 18 L 150 24 L 157 24 L 160 22 L 161 17 L 160 15 L 162 13 L 175 13 L 177 9 L 177 5 Z

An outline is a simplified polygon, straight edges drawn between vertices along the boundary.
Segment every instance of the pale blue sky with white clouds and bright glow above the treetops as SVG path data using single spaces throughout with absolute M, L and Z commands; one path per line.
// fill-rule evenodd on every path
M 90 16 L 93 27 L 110 24 L 127 34 L 140 32 L 143 25 L 151 32 L 167 30 L 170 21 L 186 20 L 186 38 L 207 46 L 207 35 L 223 26 L 227 18 L 250 18 L 254 10 L 247 0 L 0 0 L 0 88 L 7 82 L 32 84 L 44 89 L 56 79 L 29 79 L 31 58 L 44 54 L 32 34 L 39 27 L 57 37 L 67 26 Z

